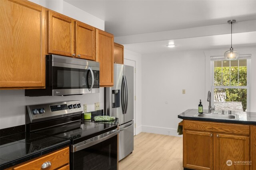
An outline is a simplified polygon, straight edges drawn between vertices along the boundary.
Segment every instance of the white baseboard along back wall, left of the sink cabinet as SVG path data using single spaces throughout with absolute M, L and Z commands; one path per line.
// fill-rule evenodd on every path
M 178 135 L 177 129 L 170 129 L 165 127 L 154 127 L 154 126 L 144 126 L 142 125 L 142 132 L 146 133 L 156 133 L 161 135 L 170 135 L 182 137 L 183 135 Z

